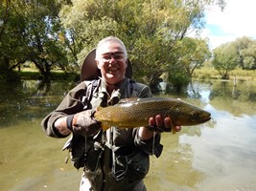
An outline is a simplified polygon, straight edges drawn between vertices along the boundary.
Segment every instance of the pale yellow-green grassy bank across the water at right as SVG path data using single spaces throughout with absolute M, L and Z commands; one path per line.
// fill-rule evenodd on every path
M 229 80 L 233 80 L 236 77 L 237 80 L 243 81 L 256 81 L 256 72 L 255 71 L 245 71 L 242 69 L 236 69 L 229 72 Z M 201 68 L 196 69 L 193 74 L 194 79 L 221 79 L 221 74 L 218 71 L 212 68 Z

